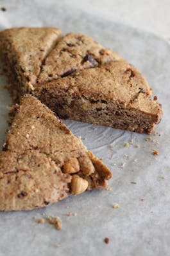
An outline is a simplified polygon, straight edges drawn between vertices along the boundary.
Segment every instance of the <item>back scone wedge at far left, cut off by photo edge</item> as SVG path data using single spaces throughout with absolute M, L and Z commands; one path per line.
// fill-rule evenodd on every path
M 23 27 L 0 32 L 0 54 L 12 84 L 10 91 L 14 99 L 33 89 L 42 62 L 61 36 L 58 28 Z

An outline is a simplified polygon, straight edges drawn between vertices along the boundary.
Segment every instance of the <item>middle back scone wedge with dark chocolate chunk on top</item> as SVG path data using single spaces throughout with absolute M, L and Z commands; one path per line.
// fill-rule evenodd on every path
M 112 50 L 103 48 L 91 37 L 68 33 L 49 53 L 37 82 L 42 84 L 58 77 L 67 77 L 76 70 L 94 68 L 111 60 L 123 59 Z

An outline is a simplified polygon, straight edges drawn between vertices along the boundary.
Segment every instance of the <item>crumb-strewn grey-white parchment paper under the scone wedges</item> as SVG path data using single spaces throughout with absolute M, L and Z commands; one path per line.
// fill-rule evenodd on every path
M 170 249 L 170 47 L 155 35 L 80 12 L 59 1 L 1 1 L 0 29 L 58 26 L 82 32 L 117 51 L 137 66 L 158 95 L 164 116 L 160 136 L 130 133 L 87 123 L 64 121 L 112 170 L 112 190 L 85 192 L 31 212 L 0 213 L 0 255 L 169 255 Z M 113 14 L 114 15 L 114 14 Z M 1 85 L 5 78 L 0 77 Z M 1 145 L 8 125 L 10 96 L 0 89 Z M 151 137 L 146 141 L 146 138 Z M 124 143 L 130 143 L 129 148 Z M 114 147 L 110 148 L 109 145 Z M 139 145 L 139 146 L 137 146 Z M 157 149 L 158 156 L 153 156 Z M 125 164 L 124 164 L 125 163 Z M 1 199 L 0 199 L 1 200 Z M 114 203 L 119 208 L 113 208 Z M 77 216 L 67 216 L 69 212 Z M 38 224 L 58 215 L 63 228 Z M 109 244 L 103 239 L 108 237 Z M 60 246 L 56 247 L 55 245 Z

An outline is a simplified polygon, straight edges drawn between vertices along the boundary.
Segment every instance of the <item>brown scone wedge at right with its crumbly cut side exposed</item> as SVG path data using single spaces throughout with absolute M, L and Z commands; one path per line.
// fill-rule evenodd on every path
M 37 87 L 35 95 L 62 118 L 96 123 L 137 133 L 151 133 L 161 106 L 131 64 L 115 60 L 83 69 Z

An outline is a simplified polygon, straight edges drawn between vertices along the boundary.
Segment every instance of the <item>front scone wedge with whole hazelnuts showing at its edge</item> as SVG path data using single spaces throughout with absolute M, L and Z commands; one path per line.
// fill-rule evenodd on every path
M 0 152 L 0 210 L 31 210 L 102 189 L 112 177 L 37 98 L 22 98 Z

